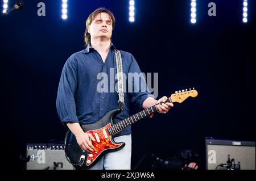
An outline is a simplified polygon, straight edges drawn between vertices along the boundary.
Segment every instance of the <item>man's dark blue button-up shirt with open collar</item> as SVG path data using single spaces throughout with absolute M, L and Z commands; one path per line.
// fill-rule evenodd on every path
M 118 94 L 114 89 L 117 84 L 114 45 L 110 45 L 105 62 L 100 53 L 94 48 L 86 46 L 84 50 L 72 54 L 63 67 L 59 88 L 57 91 L 56 107 L 61 121 L 65 123 L 90 124 L 100 119 L 106 112 L 118 108 Z M 123 73 L 141 73 L 137 61 L 131 53 L 121 51 Z M 98 77 L 97 77 L 98 76 Z M 102 83 L 105 79 L 105 83 Z M 107 82 L 106 82 L 107 80 Z M 123 111 L 114 117 L 113 123 L 118 123 L 130 116 L 130 107 L 138 106 L 142 110 L 142 103 L 149 96 L 147 89 L 143 91 L 141 84 L 146 85 L 144 77 L 141 81 L 133 80 L 133 91 L 125 89 Z M 124 87 L 129 83 L 123 80 Z M 131 82 L 130 82 L 131 83 Z M 134 91 L 134 90 L 137 91 Z M 131 128 L 126 127 L 116 136 L 131 134 Z

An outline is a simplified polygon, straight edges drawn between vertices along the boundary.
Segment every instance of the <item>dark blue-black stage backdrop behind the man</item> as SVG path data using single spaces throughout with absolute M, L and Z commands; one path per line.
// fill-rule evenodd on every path
M 16 1 L 9 1 L 9 7 Z M 46 4 L 38 16 L 37 4 Z M 215 2 L 217 16 L 208 16 Z M 88 15 L 98 7 L 113 11 L 115 47 L 130 52 L 145 73 L 158 73 L 158 98 L 195 87 L 197 98 L 175 104 L 133 125 L 131 166 L 147 153 L 170 158 L 183 149 L 200 154 L 204 139 L 255 141 L 255 2 L 242 22 L 242 1 L 197 1 L 197 23 L 190 23 L 191 1 L 24 1 L 22 10 L 0 18 L 1 166 L 24 169 L 19 155 L 27 143 L 63 141 L 56 112 L 61 70 L 84 48 Z M 2 1 L 1 1 L 2 7 Z M 145 161 L 138 167 L 148 169 Z

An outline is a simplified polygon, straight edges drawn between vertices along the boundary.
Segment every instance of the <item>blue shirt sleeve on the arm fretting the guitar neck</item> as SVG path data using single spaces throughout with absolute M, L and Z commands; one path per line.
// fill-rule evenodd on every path
M 131 76 L 131 74 L 133 74 L 133 76 Z M 137 75 L 138 77 L 136 77 Z M 133 77 L 132 85 L 131 85 L 131 77 Z M 140 81 L 138 81 L 138 79 Z M 152 97 L 155 99 L 155 96 L 152 95 L 148 90 L 146 80 L 144 76 L 142 76 L 141 69 L 139 68 L 138 63 L 132 54 L 131 54 L 131 65 L 128 73 L 128 81 L 129 81 L 128 91 L 129 91 L 129 95 L 131 96 L 131 102 L 136 106 L 138 106 L 141 110 L 143 110 L 142 104 L 144 100 L 146 100 L 149 97 Z

